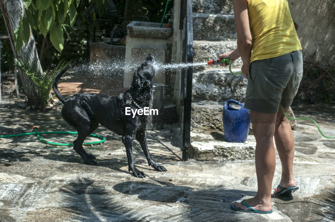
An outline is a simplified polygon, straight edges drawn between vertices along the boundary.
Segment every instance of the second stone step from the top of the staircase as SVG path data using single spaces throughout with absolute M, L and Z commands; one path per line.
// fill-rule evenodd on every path
M 193 12 L 193 40 L 236 40 L 234 15 Z

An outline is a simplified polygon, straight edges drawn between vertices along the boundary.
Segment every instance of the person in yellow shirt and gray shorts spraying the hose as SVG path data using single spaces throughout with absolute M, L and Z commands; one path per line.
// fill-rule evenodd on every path
M 294 138 L 285 112 L 297 93 L 303 74 L 301 45 L 287 0 L 232 0 L 238 48 L 220 59 L 242 58 L 248 79 L 244 107 L 250 110 L 256 139 L 255 165 L 258 190 L 255 197 L 231 204 L 231 209 L 272 213 L 271 190 L 276 148 L 282 165 L 275 195 L 298 189 L 293 177 Z M 224 66 L 224 65 L 222 65 Z

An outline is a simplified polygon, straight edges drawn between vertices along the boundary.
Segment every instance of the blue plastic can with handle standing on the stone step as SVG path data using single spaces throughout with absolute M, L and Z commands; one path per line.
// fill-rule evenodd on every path
M 232 103 L 241 106 L 241 108 L 231 107 Z M 228 142 L 245 142 L 250 128 L 250 110 L 244 108 L 242 103 L 230 99 L 224 103 L 222 116 L 224 139 Z

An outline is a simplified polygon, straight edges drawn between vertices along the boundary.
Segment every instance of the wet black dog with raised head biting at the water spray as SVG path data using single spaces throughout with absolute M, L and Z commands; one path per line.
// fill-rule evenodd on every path
M 164 166 L 158 165 L 150 156 L 145 138 L 147 116 L 138 115 L 137 113 L 134 117 L 132 114 L 125 115 L 126 107 L 130 107 L 133 110 L 149 107 L 155 75 L 153 63 L 154 58 L 149 54 L 145 62 L 135 71 L 130 90 L 120 94 L 118 97 L 92 93 L 75 94 L 66 99 L 59 93 L 57 83 L 69 67 L 66 67 L 56 76 L 53 90 L 58 99 L 64 104 L 62 109 L 63 118 L 78 131 L 78 137 L 73 142 L 73 149 L 84 159 L 85 163 L 96 164 L 93 160 L 95 156 L 86 153 L 82 144 L 85 138 L 100 123 L 118 135 L 122 135 L 122 142 L 127 152 L 128 170 L 132 171 L 135 177 L 143 178 L 145 176 L 134 165 L 132 150 L 134 136 L 141 144 L 149 166 L 151 165 L 156 171 L 166 171 Z

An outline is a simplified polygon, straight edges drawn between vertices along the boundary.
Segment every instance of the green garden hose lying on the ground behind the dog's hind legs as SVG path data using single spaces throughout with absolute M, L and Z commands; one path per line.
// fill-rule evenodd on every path
M 40 134 L 73 134 L 73 135 L 78 135 L 78 132 L 63 132 L 63 131 L 56 131 L 56 132 L 38 132 L 37 131 L 37 126 L 32 127 L 32 130 L 34 132 L 29 132 L 29 133 L 21 133 L 21 134 L 13 134 L 13 135 L 0 135 L 0 138 L 5 138 L 5 137 L 14 137 L 14 136 L 26 136 L 26 135 L 37 135 L 37 138 L 47 144 L 50 145 L 56 145 L 56 146 L 73 146 L 73 143 L 54 143 L 54 142 L 49 142 L 45 139 L 42 139 L 42 137 L 40 136 Z M 105 142 L 105 138 L 99 135 L 95 135 L 95 134 L 90 134 L 89 136 L 93 136 L 96 138 L 101 139 L 100 141 L 96 141 L 96 142 L 88 142 L 88 143 L 83 143 L 83 145 L 94 145 L 94 144 L 100 144 Z

